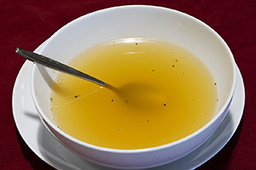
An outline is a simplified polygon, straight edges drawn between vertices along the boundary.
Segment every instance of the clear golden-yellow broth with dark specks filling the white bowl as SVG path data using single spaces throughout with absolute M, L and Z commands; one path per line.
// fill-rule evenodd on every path
M 50 98 L 55 123 L 89 144 L 124 150 L 168 144 L 209 122 L 218 102 L 207 66 L 171 42 L 102 42 L 69 65 L 119 89 L 62 73 L 56 78 Z

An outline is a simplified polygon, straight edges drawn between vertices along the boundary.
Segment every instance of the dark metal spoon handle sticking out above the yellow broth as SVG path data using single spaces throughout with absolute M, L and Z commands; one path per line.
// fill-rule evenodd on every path
M 94 82 L 94 83 L 96 83 L 100 86 L 106 86 L 107 85 L 106 82 L 102 82 L 101 80 L 98 80 L 95 77 L 91 77 L 91 76 L 85 74 L 84 72 L 73 69 L 72 67 L 70 67 L 68 65 L 64 65 L 59 61 L 56 61 L 54 59 L 49 59 L 48 57 L 45 57 L 43 55 L 36 54 L 36 53 L 31 52 L 31 51 L 27 51 L 26 49 L 22 49 L 22 48 L 16 48 L 15 52 L 16 52 L 16 54 L 19 54 L 20 56 L 22 56 L 26 59 L 29 59 L 29 60 L 31 60 L 33 62 L 36 62 L 38 64 L 41 64 L 41 65 L 47 66 L 51 69 L 61 71 L 61 72 L 65 72 L 67 74 L 71 74 L 71 75 L 76 76 L 76 77 L 83 78 L 83 79 L 88 80 L 90 82 Z

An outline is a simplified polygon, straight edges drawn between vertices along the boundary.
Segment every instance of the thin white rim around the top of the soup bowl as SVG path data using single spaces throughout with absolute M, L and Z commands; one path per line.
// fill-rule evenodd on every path
M 105 152 L 122 153 L 122 154 L 150 152 L 150 151 L 154 151 L 154 150 L 163 150 L 163 149 L 172 147 L 174 145 L 181 144 L 181 143 L 183 143 L 184 141 L 186 141 L 188 139 L 193 139 L 197 134 L 203 132 L 205 129 L 207 129 L 207 127 L 210 127 L 212 125 L 212 123 L 215 122 L 218 119 L 218 117 L 221 116 L 224 113 L 225 109 L 227 107 L 229 107 L 229 105 L 230 105 L 230 102 L 232 100 L 232 97 L 233 97 L 233 94 L 234 94 L 234 91 L 235 91 L 235 88 L 236 88 L 236 62 L 235 62 L 233 54 L 231 53 L 230 48 L 228 47 L 227 43 L 224 42 L 224 39 L 222 37 L 220 37 L 216 31 L 214 31 L 210 26 L 207 26 L 207 24 L 205 24 L 203 21 L 196 19 L 194 16 L 191 16 L 189 14 L 185 14 L 185 13 L 183 13 L 181 11 L 176 10 L 176 9 L 160 7 L 160 6 L 153 6 L 153 5 L 123 5 L 123 6 L 116 6 L 116 7 L 111 7 L 111 8 L 103 8 L 103 9 L 100 9 L 100 10 L 96 10 L 96 11 L 90 13 L 90 14 L 84 14 L 84 15 L 80 16 L 79 18 L 70 21 L 65 26 L 62 26 L 58 31 L 55 31 L 55 33 L 51 37 L 49 37 L 49 39 L 45 42 L 44 47 L 41 48 L 41 50 L 39 51 L 39 54 L 41 54 L 44 51 L 44 48 L 47 48 L 47 45 L 49 44 L 49 42 L 53 41 L 53 39 L 56 36 L 58 36 L 58 34 L 60 34 L 62 31 L 65 31 L 69 27 L 75 25 L 80 20 L 85 20 L 86 18 L 88 18 L 88 17 L 90 17 L 92 15 L 95 15 L 95 14 L 102 14 L 102 13 L 106 13 L 106 12 L 112 11 L 112 10 L 121 10 L 122 8 L 158 9 L 158 10 L 161 10 L 161 11 L 181 14 L 181 15 L 183 15 L 183 17 L 186 17 L 189 20 L 194 20 L 199 25 L 204 26 L 205 29 L 207 29 L 208 31 L 211 31 L 211 33 L 214 36 L 218 37 L 219 42 L 221 42 L 221 44 L 224 46 L 224 48 L 228 52 L 228 55 L 230 57 L 230 61 L 232 63 L 232 70 L 233 70 L 233 77 L 232 77 L 233 82 L 232 82 L 232 87 L 230 88 L 229 97 L 225 101 L 225 103 L 221 107 L 221 109 L 218 111 L 218 113 L 215 116 L 212 117 L 211 121 L 207 122 L 207 124 L 205 124 L 203 127 L 198 129 L 194 133 L 190 133 L 188 136 L 186 136 L 186 137 L 184 137 L 182 139 L 175 140 L 175 141 L 173 141 L 171 143 L 168 143 L 168 144 L 161 144 L 161 145 L 150 147 L 150 148 L 132 149 L 132 150 L 113 149 L 113 148 L 97 146 L 95 144 L 88 144 L 88 143 L 86 143 L 84 141 L 81 141 L 79 139 L 75 139 L 73 136 L 71 136 L 71 135 L 65 133 L 64 131 L 62 131 L 53 122 L 51 122 L 49 120 L 49 118 L 44 114 L 44 111 L 42 111 L 40 105 L 38 104 L 38 100 L 37 100 L 36 94 L 35 94 L 35 87 L 34 87 L 34 83 L 33 82 L 34 82 L 34 74 L 35 74 L 35 70 L 36 70 L 37 65 L 33 64 L 33 66 L 32 66 L 32 74 L 31 74 L 31 81 L 30 81 L 30 83 L 31 83 L 31 92 L 32 92 L 32 100 L 33 100 L 33 103 L 34 103 L 34 105 L 36 106 L 36 108 L 38 110 L 39 116 L 41 117 L 41 119 L 44 119 L 44 121 L 47 122 L 47 124 L 49 124 L 49 126 L 52 127 L 57 133 L 60 133 L 61 136 L 65 137 L 66 139 L 69 139 L 72 142 L 74 142 L 76 144 L 79 144 L 79 145 L 82 145 L 84 147 L 87 147 L 87 148 L 90 148 L 90 149 L 93 149 L 93 150 L 101 150 L 101 151 L 105 151 Z M 43 120 L 41 120 L 41 121 L 43 122 Z M 45 124 L 44 124 L 44 126 L 45 126 Z M 57 138 L 57 137 L 55 137 L 55 138 Z

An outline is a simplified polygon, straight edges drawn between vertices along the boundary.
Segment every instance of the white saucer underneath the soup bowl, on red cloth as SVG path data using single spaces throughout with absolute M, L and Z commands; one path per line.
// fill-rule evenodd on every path
M 35 51 L 40 51 L 42 46 L 43 44 Z M 110 170 L 108 167 L 100 167 L 85 161 L 82 157 L 67 150 L 46 130 L 32 102 L 30 93 L 31 68 L 32 63 L 26 61 L 16 78 L 13 91 L 15 123 L 26 144 L 37 156 L 56 169 Z M 236 91 L 230 105 L 230 111 L 228 111 L 216 132 L 212 134 L 212 137 L 188 156 L 184 156 L 162 167 L 151 168 L 150 170 L 193 169 L 201 166 L 212 156 L 215 156 L 236 132 L 236 128 L 241 121 L 244 103 L 244 85 L 241 73 L 237 67 Z

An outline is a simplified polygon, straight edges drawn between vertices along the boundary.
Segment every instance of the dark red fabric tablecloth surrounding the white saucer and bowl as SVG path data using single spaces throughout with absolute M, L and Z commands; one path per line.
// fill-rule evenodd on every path
M 256 3 L 253 0 L 6 0 L 0 2 L 0 169 L 52 169 L 26 146 L 12 116 L 12 90 L 25 59 L 15 48 L 33 50 L 67 22 L 102 8 L 150 4 L 174 8 L 204 21 L 228 43 L 246 87 L 241 124 L 217 156 L 199 169 L 256 169 Z

